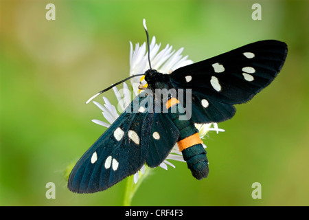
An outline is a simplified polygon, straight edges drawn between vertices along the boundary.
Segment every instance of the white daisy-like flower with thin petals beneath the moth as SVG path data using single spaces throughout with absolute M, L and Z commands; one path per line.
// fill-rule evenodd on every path
M 181 55 L 181 53 L 183 52 L 183 48 L 176 51 L 172 50 L 172 46 L 166 45 L 165 48 L 159 52 L 160 47 L 161 43 L 157 44 L 154 36 L 150 43 L 150 63 L 152 69 L 157 69 L 158 72 L 168 74 L 171 70 L 173 71 L 175 69 L 178 69 L 179 67 L 183 67 L 185 65 L 190 65 L 193 63 L 192 61 L 187 59 L 187 56 Z M 146 43 L 143 43 L 141 46 L 139 46 L 139 43 L 137 43 L 135 45 L 135 49 L 133 49 L 133 44 L 130 42 L 130 76 L 136 74 L 144 74 L 144 72 L 146 72 L 146 70 L 148 69 L 149 63 L 148 54 L 146 52 Z M 142 83 L 142 85 L 146 85 L 144 76 L 131 79 L 134 96 L 137 96 L 139 94 L 138 86 L 140 82 Z M 121 89 L 122 92 L 119 91 L 116 87 L 113 87 L 113 91 L 118 100 L 117 109 L 119 113 L 122 113 L 122 111 L 124 111 L 128 104 L 132 102 L 134 97 L 130 97 L 130 90 L 128 89 L 128 85 L 126 85 L 126 83 L 124 83 L 124 87 L 123 89 Z M 101 120 L 92 121 L 96 124 L 108 127 L 119 117 L 119 113 L 117 112 L 115 106 L 111 104 L 111 102 L 109 102 L 107 98 L 103 97 L 103 100 L 104 105 L 95 101 L 93 101 L 93 103 L 102 110 L 102 114 L 109 124 Z M 196 129 L 200 131 L 199 135 L 201 138 L 205 136 L 207 131 L 217 131 L 217 133 L 218 131 L 224 131 L 222 129 L 218 129 L 218 124 L 214 123 L 212 125 L 213 127 L 211 127 L 211 124 L 196 124 Z M 203 144 L 203 146 L 204 148 L 206 148 L 205 144 Z M 173 146 L 172 151 L 170 151 L 168 157 L 159 165 L 165 170 L 168 169 L 168 165 L 175 168 L 174 164 L 168 162 L 167 159 L 185 162 L 182 153 L 179 151 L 177 143 Z M 145 166 L 141 168 L 141 173 L 144 173 L 144 171 Z M 134 175 L 135 183 L 137 183 L 138 177 L 139 172 Z

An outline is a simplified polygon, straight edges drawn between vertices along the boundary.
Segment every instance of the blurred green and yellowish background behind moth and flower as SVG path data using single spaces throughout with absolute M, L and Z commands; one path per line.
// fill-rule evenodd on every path
M 2 206 L 121 206 L 126 181 L 93 195 L 67 190 L 63 172 L 104 132 L 93 94 L 128 76 L 129 41 L 146 40 L 142 19 L 161 48 L 192 61 L 247 43 L 288 44 L 282 72 L 224 133 L 210 132 L 210 173 L 197 181 L 186 164 L 156 168 L 133 206 L 309 205 L 308 1 L 0 1 Z M 47 3 L 56 21 L 47 21 Z M 253 3 L 262 21 L 253 21 Z M 116 104 L 113 91 L 104 94 Z M 97 98 L 102 103 L 102 96 Z M 45 184 L 56 184 L 56 199 Z M 262 199 L 251 185 L 262 184 Z

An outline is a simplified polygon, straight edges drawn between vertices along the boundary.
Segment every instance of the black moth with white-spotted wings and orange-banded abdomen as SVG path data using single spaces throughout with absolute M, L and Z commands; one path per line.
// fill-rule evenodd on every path
M 248 102 L 275 79 L 288 52 L 286 43 L 258 41 L 162 74 L 151 68 L 145 23 L 144 27 L 150 69 L 142 75 L 148 87 L 78 160 L 68 181 L 73 192 L 106 190 L 137 173 L 144 164 L 159 166 L 176 143 L 192 175 L 206 178 L 207 152 L 194 123 L 232 118 L 234 104 Z M 161 98 L 156 95 L 158 89 L 174 93 Z M 190 106 L 178 98 L 179 91 L 184 99 L 190 98 Z M 187 120 L 181 120 L 184 109 L 192 111 Z

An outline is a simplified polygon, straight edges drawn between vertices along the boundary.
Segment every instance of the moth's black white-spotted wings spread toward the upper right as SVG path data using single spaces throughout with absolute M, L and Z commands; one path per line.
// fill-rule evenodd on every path
M 233 104 L 251 100 L 273 81 L 287 52 L 283 42 L 258 41 L 176 69 L 170 78 L 176 89 L 192 89 L 194 122 L 221 122 L 234 115 Z

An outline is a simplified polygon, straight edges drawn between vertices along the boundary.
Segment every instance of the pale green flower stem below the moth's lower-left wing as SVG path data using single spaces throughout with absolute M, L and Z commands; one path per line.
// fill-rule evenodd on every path
M 126 191 L 124 192 L 124 206 L 130 206 L 133 196 L 137 191 L 137 188 L 141 185 L 141 182 L 149 175 L 151 168 L 148 166 L 145 167 L 144 174 L 139 171 L 139 180 L 135 184 L 134 175 L 130 175 L 130 177 L 126 180 Z

